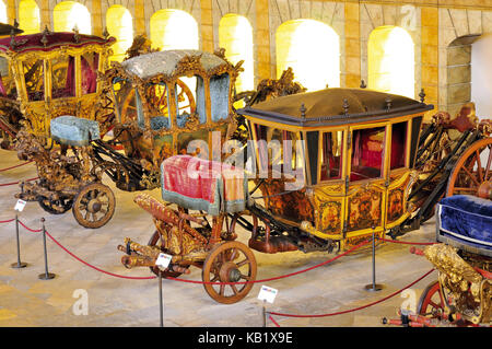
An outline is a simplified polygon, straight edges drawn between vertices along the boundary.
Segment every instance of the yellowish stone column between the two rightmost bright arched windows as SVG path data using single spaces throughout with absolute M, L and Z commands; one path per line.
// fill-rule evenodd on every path
M 359 88 L 361 85 L 361 32 L 359 3 L 345 2 L 344 14 L 345 71 L 341 73 L 340 85 L 345 88 Z

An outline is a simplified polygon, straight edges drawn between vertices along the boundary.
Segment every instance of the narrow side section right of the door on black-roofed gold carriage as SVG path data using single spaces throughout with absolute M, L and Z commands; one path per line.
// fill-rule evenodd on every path
M 410 214 L 407 207 L 407 187 L 410 184 L 410 132 L 409 121 L 395 123 L 389 126 L 391 135 L 388 147 L 388 182 L 386 193 L 385 229 L 400 224 Z

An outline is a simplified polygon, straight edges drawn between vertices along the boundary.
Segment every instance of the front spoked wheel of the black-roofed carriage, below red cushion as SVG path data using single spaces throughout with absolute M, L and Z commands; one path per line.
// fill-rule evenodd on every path
M 256 279 L 256 259 L 251 249 L 237 241 L 229 241 L 213 247 L 203 264 L 203 282 L 244 282 Z M 203 284 L 207 293 L 216 302 L 232 304 L 248 294 L 253 283 Z

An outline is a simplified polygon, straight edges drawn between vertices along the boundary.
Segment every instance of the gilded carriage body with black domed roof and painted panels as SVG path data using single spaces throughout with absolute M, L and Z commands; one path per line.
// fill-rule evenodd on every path
M 383 235 L 412 211 L 413 162 L 423 114 L 432 108 L 376 91 L 327 89 L 238 110 L 256 141 L 259 172 L 276 165 L 282 172 L 261 181 L 266 209 L 342 247 L 366 240 L 373 229 Z M 293 171 L 305 182 L 298 190 L 286 186 Z

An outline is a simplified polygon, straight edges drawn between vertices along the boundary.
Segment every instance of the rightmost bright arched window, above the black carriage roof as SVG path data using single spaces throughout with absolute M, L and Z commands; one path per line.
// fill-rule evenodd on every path
M 368 38 L 367 55 L 370 89 L 414 97 L 415 58 L 407 31 L 393 25 L 375 28 Z

